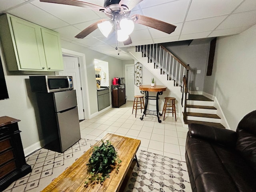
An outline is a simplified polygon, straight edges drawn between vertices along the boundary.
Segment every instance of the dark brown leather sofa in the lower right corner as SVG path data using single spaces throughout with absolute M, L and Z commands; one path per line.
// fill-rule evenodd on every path
M 256 192 L 256 110 L 236 132 L 189 124 L 185 157 L 193 192 Z

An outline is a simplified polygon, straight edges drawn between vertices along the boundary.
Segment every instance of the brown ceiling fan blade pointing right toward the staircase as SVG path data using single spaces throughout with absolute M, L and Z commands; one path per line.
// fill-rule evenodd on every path
M 176 28 L 175 25 L 172 25 L 172 24 L 169 24 L 169 23 L 166 23 L 166 22 L 163 22 L 163 21 L 151 18 L 151 17 L 147 17 L 144 15 L 134 14 L 131 16 L 131 18 L 132 19 L 135 18 L 135 20 L 134 20 L 135 23 L 142 24 L 142 25 L 145 25 L 145 26 L 148 26 L 151 28 L 155 28 L 157 30 L 160 30 L 160 31 L 168 33 L 168 34 L 174 32 L 174 30 Z

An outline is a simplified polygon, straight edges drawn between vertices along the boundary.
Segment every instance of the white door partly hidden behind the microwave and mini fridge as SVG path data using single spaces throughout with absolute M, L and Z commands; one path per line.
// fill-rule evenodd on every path
M 80 85 L 80 75 L 77 57 L 63 57 L 64 70 L 59 72 L 59 75 L 72 76 L 74 89 L 76 90 L 76 101 L 78 108 L 79 120 L 84 119 L 83 103 L 82 103 L 82 91 Z

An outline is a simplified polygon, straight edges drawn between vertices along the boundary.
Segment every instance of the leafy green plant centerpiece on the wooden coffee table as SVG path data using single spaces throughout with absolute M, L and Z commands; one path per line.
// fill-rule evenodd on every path
M 103 140 L 101 141 L 102 144 L 100 146 L 94 146 L 89 163 L 86 164 L 88 165 L 88 171 L 91 176 L 84 182 L 86 185 L 88 183 L 98 182 L 102 184 L 106 178 L 109 178 L 109 173 L 115 167 L 118 172 L 119 164 L 122 162 L 118 158 L 118 154 L 111 142 L 108 140 L 106 140 L 106 143 Z

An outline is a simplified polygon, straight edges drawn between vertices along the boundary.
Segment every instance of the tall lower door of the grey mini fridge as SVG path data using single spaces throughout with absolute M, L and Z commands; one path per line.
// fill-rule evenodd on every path
M 56 114 L 58 118 L 60 150 L 64 152 L 81 138 L 77 106 Z

